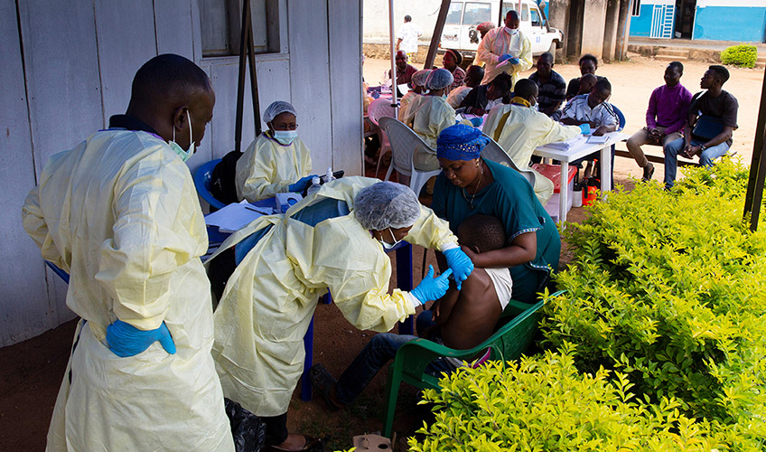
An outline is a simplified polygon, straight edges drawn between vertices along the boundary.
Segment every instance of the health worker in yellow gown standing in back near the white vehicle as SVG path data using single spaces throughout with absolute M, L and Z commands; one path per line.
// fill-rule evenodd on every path
M 476 61 L 484 63 L 482 85 L 490 83 L 501 72 L 507 72 L 512 79 L 512 90 L 518 73 L 532 67 L 532 45 L 518 29 L 518 23 L 518 13 L 510 10 L 505 16 L 505 26 L 493 28 L 479 42 Z

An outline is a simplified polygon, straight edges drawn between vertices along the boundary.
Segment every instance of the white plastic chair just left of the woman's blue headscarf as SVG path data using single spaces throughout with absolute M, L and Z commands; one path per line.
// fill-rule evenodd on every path
M 422 150 L 434 152 L 431 146 L 425 144 L 423 138 L 418 137 L 411 128 L 406 127 L 401 121 L 396 118 L 380 118 L 380 127 L 388 135 L 388 140 L 391 143 L 391 153 L 393 158 L 391 159 L 391 165 L 388 166 L 388 172 L 384 181 L 388 181 L 388 177 L 391 176 L 393 170 L 397 170 L 397 173 L 404 174 L 410 177 L 409 188 L 416 194 L 420 194 L 420 190 L 423 188 L 428 179 L 438 175 L 442 172 L 441 169 L 434 171 L 418 171 L 415 169 L 415 162 L 413 162 L 413 155 L 416 152 Z

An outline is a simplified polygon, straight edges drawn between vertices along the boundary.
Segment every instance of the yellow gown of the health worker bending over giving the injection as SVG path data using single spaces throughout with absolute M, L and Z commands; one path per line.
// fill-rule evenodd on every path
M 215 312 L 213 358 L 224 394 L 257 416 L 287 411 L 303 371 L 304 334 L 328 288 L 335 306 L 362 330 L 388 331 L 415 313 L 406 292 L 388 295 L 391 261 L 354 217 L 357 193 L 377 182 L 344 177 L 324 184 L 284 216 L 261 217 L 221 245 L 273 225 L 238 264 Z M 345 201 L 350 213 L 315 227 L 291 218 L 325 198 Z M 446 221 L 421 211 L 407 241 L 438 250 L 457 242 Z

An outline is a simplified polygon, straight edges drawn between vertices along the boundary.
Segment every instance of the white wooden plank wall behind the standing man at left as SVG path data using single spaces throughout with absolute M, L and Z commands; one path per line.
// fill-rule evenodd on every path
M 124 113 L 135 71 L 159 53 L 197 61 L 216 92 L 192 171 L 234 148 L 237 101 L 238 57 L 201 58 L 195 0 L 18 5 L 0 0 L 0 346 L 74 317 L 67 287 L 22 227 L 23 200 L 47 159 Z M 279 0 L 279 18 L 281 51 L 257 55 L 261 114 L 274 100 L 292 102 L 314 170 L 361 174 L 361 0 Z M 249 85 L 245 99 L 243 149 L 255 137 Z

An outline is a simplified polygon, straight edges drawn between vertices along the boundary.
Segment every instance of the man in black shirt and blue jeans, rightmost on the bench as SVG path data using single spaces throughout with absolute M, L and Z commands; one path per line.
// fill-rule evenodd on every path
M 699 155 L 699 163 L 713 166 L 713 160 L 725 155 L 732 146 L 732 134 L 737 128 L 739 104 L 722 87 L 729 80 L 724 66 L 710 66 L 699 87 L 707 89 L 694 95 L 689 106 L 684 137 L 665 146 L 665 188 L 676 181 L 677 155 L 691 158 Z

